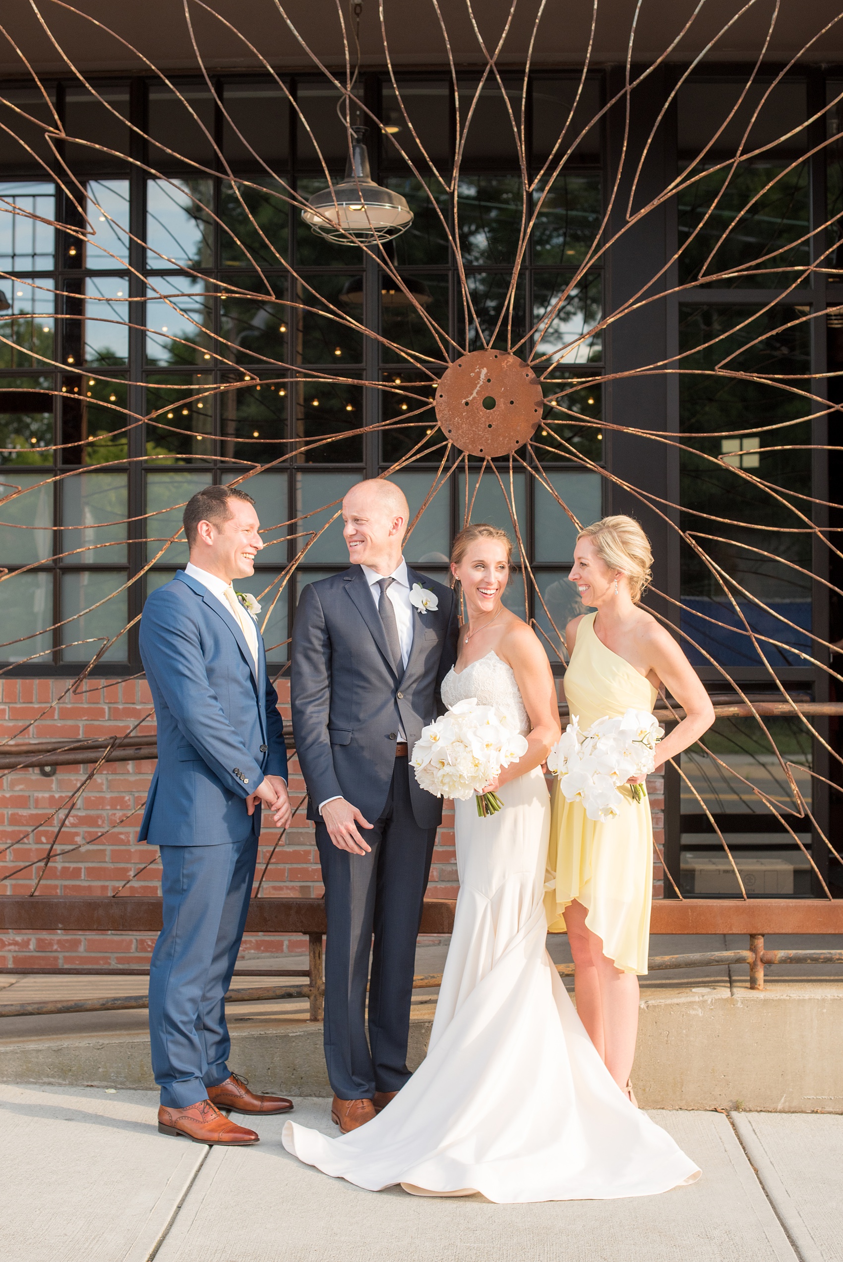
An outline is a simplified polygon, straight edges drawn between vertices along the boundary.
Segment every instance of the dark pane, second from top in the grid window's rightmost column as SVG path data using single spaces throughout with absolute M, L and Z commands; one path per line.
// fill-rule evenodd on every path
M 534 196 L 534 262 L 578 266 L 594 244 L 601 225 L 599 174 L 569 175 L 563 172 L 550 188 L 540 188 Z

